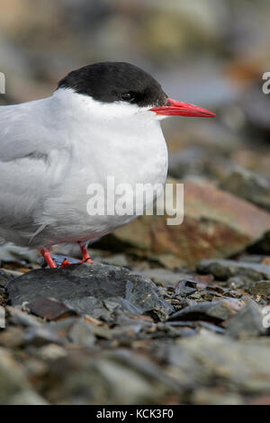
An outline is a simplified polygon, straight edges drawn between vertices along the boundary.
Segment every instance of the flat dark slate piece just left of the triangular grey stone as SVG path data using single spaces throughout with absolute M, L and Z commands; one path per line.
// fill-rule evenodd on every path
M 209 320 L 216 323 L 229 319 L 242 306 L 236 300 L 201 302 L 176 311 L 168 320 Z

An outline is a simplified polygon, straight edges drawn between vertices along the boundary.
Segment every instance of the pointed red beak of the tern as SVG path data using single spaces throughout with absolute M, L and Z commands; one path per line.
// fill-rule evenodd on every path
M 164 114 L 166 116 L 197 116 L 201 118 L 214 118 L 216 115 L 202 107 L 195 106 L 189 103 L 177 102 L 171 98 L 167 99 L 166 106 L 153 107 L 149 109 L 150 112 L 157 114 Z

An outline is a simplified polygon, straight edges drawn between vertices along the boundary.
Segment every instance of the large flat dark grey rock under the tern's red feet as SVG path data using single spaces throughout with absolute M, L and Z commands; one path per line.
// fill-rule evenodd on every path
M 172 311 L 148 278 L 131 275 L 126 268 L 101 264 L 34 270 L 11 280 L 6 291 L 14 305 L 50 297 L 61 302 L 67 300 L 67 305 L 73 302 L 73 307 L 74 301 L 79 304 L 82 300 L 85 307 L 85 297 L 91 296 L 116 302 L 123 310 L 133 313 L 156 314 L 159 319 L 166 319 Z

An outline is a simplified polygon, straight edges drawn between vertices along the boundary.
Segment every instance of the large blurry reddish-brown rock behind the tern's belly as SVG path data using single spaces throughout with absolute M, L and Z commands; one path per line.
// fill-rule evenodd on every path
M 142 216 L 116 230 L 111 246 L 148 257 L 170 253 L 179 257 L 182 266 L 193 267 L 203 258 L 231 257 L 269 229 L 266 211 L 212 185 L 188 182 L 181 225 L 167 225 L 166 216 Z

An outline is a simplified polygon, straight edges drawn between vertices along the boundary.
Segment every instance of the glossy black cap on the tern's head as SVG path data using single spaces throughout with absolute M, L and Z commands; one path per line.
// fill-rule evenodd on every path
M 123 101 L 140 107 L 162 106 L 167 96 L 156 79 L 125 62 L 94 63 L 73 70 L 58 83 L 104 103 Z

